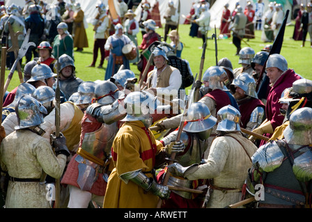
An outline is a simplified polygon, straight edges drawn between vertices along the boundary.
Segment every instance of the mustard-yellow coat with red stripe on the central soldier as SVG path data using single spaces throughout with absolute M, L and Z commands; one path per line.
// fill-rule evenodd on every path
M 109 176 L 103 208 L 157 207 L 158 196 L 144 191 L 130 180 L 126 183 L 120 176 L 140 169 L 143 172 L 151 171 L 155 164 L 155 155 L 161 148 L 162 144 L 155 140 L 153 133 L 144 127 L 142 121 L 123 124 L 112 146 L 111 155 L 115 168 Z M 146 173 L 146 176 L 153 177 L 151 173 Z

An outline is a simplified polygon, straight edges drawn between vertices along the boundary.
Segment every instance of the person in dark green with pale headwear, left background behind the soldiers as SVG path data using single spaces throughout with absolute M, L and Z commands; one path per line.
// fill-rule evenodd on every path
M 63 54 L 66 54 L 71 58 L 74 58 L 74 41 L 72 40 L 70 33 L 68 33 L 67 24 L 65 24 L 65 22 L 61 22 L 57 26 L 57 32 L 59 35 L 56 35 L 52 43 L 52 55 L 54 58 L 58 58 L 58 56 L 60 57 Z

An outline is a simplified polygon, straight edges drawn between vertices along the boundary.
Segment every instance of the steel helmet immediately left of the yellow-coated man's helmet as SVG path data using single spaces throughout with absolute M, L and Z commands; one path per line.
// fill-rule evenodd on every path
M 102 105 L 109 105 L 114 103 L 116 99 L 123 99 L 124 96 L 114 83 L 105 80 L 95 85 L 95 98 L 92 103 L 98 102 Z

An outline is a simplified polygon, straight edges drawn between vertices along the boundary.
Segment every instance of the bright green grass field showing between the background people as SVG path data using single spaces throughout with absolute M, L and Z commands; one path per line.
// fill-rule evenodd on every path
M 180 40 L 185 44 L 184 49 L 182 51 L 182 58 L 189 61 L 189 65 L 191 66 L 192 73 L 194 76 L 196 73 L 199 73 L 200 64 L 201 64 L 201 55 L 202 49 L 198 49 L 198 47 L 202 46 L 201 38 L 197 37 L 190 37 L 189 36 L 189 25 L 180 25 L 179 26 L 179 33 L 180 33 Z M 88 48 L 84 48 L 82 52 L 75 51 L 75 66 L 76 66 L 76 75 L 77 77 L 81 78 L 85 81 L 94 81 L 94 80 L 104 80 L 104 73 L 105 69 L 98 69 L 96 68 L 99 65 L 100 57 L 98 57 L 98 61 L 95 64 L 95 67 L 86 67 L 90 65 L 93 59 L 93 26 L 89 24 L 87 28 L 87 36 L 88 36 Z M 286 58 L 288 61 L 288 67 L 291 69 L 295 69 L 297 74 L 300 74 L 304 78 L 312 79 L 312 48 L 310 48 L 309 43 L 309 35 L 307 36 L 307 42 L 305 47 L 301 47 L 302 41 L 294 41 L 291 39 L 292 33 L 294 30 L 293 22 L 291 25 L 286 26 L 286 31 L 283 40 L 283 47 L 281 49 L 281 55 Z M 164 29 L 158 28 L 157 33 L 159 35 L 164 35 Z M 205 63 L 203 68 L 203 73 L 206 69 L 210 66 L 215 65 L 215 50 L 214 50 L 214 40 L 211 39 L 214 30 L 209 31 L 208 33 L 208 44 L 207 49 L 205 52 Z M 219 35 L 219 30 L 217 29 L 217 35 Z M 262 42 L 260 39 L 261 31 L 256 31 L 256 38 L 249 40 L 247 44 L 253 48 L 253 50 L 257 53 L 263 46 L 268 43 Z M 142 35 L 139 33 L 137 35 L 139 44 L 142 40 Z M 247 39 L 244 39 L 247 41 Z M 31 41 L 31 40 L 30 40 Z M 169 39 L 167 40 L 169 42 Z M 246 43 L 242 42 L 242 48 L 248 46 Z M 233 68 L 240 67 L 238 64 L 238 56 L 235 55 L 236 48 L 232 44 L 232 38 L 228 39 L 219 39 L 217 40 L 217 59 L 221 58 L 228 58 L 231 60 Z M 100 56 L 100 52 L 99 52 Z M 22 68 L 24 67 L 25 58 L 23 59 Z M 104 67 L 107 66 L 107 60 L 104 62 Z M 139 77 L 139 71 L 136 65 L 130 65 L 130 69 L 134 71 Z M 6 70 L 6 76 L 8 75 L 8 70 Z M 14 89 L 17 85 L 19 85 L 19 79 L 17 75 L 17 71 L 10 82 L 8 87 L 8 91 Z

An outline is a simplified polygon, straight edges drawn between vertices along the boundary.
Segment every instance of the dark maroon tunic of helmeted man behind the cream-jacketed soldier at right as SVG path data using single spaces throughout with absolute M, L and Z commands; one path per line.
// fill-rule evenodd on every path
M 240 119 L 240 127 L 246 128 L 252 111 L 256 109 L 258 106 L 263 107 L 263 109 L 265 109 L 265 105 L 263 104 L 263 102 L 260 101 L 260 99 L 256 98 L 251 98 L 245 103 L 240 104 L 240 114 L 242 115 L 242 118 Z

